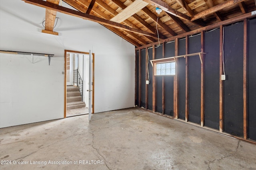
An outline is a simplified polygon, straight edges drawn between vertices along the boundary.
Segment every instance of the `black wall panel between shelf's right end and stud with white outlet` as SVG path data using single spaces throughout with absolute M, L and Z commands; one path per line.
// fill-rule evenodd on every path
M 219 129 L 220 29 L 205 33 L 204 125 Z

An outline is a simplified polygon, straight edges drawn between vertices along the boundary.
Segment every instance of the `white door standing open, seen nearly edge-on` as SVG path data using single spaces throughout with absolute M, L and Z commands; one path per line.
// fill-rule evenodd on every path
M 92 52 L 89 51 L 89 89 L 87 90 L 89 92 L 89 104 L 88 104 L 88 110 L 89 110 L 89 121 L 92 117 Z

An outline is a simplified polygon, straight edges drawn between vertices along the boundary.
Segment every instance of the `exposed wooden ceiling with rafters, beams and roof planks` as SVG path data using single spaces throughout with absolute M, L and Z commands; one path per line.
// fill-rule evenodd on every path
M 256 0 L 23 0 L 46 8 L 45 30 L 56 12 L 96 21 L 136 47 L 256 10 Z M 66 2 L 79 12 L 58 4 Z M 156 7 L 162 12 L 157 14 Z M 49 32 L 50 31 L 50 32 Z M 56 32 L 53 32 L 56 35 Z

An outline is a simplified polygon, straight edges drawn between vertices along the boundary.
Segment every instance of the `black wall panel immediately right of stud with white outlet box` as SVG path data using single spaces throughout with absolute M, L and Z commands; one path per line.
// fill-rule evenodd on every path
M 224 27 L 224 131 L 243 135 L 243 46 L 242 22 Z

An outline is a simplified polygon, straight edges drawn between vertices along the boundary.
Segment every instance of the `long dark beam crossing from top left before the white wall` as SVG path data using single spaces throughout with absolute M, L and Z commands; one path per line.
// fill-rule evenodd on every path
M 82 18 L 84 20 L 94 21 L 94 22 L 97 22 L 97 23 L 100 23 L 100 24 L 103 24 L 103 25 L 109 25 L 109 26 L 112 26 L 112 27 L 116 27 L 116 28 L 124 29 L 126 31 L 139 33 L 139 34 L 142 34 L 142 35 L 157 37 L 156 34 L 152 34 L 152 33 L 146 32 L 146 31 L 134 29 L 134 28 L 128 27 L 126 25 L 122 25 L 120 23 L 105 20 L 103 18 L 99 18 L 99 17 L 96 17 L 96 16 L 91 16 L 89 14 L 84 14 L 82 12 L 72 10 L 72 9 L 69 9 L 69 8 L 65 8 L 63 6 L 59 6 L 59 5 L 56 5 L 56 4 L 52 4 L 52 3 L 46 2 L 44 0 L 23 0 L 23 1 L 26 2 L 26 3 L 29 3 L 29 4 L 33 4 L 33 5 L 36 5 L 36 6 L 40 6 L 40 7 L 49 9 L 49 10 L 54 10 L 54 11 L 57 11 L 57 12 L 61 12 L 63 14 L 68 14 L 68 15 L 75 16 L 75 17 L 78 17 L 78 18 Z

